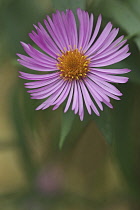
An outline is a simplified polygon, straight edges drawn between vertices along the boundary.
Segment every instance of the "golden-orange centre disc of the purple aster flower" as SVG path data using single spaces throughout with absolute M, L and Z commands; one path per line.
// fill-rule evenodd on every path
M 60 76 L 66 80 L 79 80 L 87 76 L 90 59 L 78 49 L 63 52 L 58 58 Z

